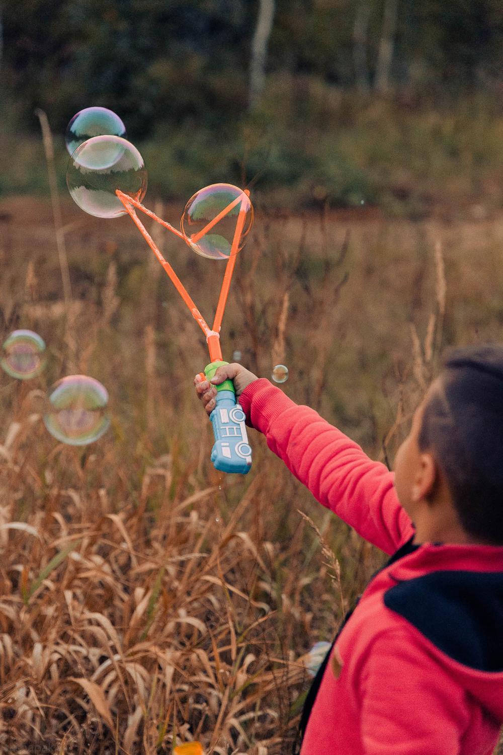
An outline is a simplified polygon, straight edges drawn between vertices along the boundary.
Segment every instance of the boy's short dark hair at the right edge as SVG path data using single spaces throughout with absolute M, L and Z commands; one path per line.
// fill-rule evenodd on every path
M 445 473 L 465 531 L 503 545 L 503 345 L 447 354 L 418 445 Z

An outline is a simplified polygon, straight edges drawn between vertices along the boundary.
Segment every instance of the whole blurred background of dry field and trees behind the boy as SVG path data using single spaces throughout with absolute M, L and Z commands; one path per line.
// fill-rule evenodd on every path
M 115 110 L 173 225 L 202 186 L 250 187 L 225 358 L 284 363 L 280 390 L 391 467 L 443 350 L 501 341 L 501 3 L 0 9 L 0 328 L 48 344 L 0 378 L 0 753 L 290 753 L 302 658 L 384 556 L 257 433 L 246 477 L 213 470 L 204 338 L 129 218 L 69 198 L 64 131 Z M 222 267 L 147 226 L 210 319 Z M 73 373 L 110 394 L 85 448 L 41 421 Z

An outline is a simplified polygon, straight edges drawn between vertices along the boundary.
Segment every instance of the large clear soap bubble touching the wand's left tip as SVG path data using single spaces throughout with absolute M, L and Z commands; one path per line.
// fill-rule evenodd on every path
M 66 183 L 78 206 L 96 217 L 119 217 L 126 210 L 115 190 L 141 202 L 147 189 L 143 157 L 121 137 L 92 137 L 75 149 Z

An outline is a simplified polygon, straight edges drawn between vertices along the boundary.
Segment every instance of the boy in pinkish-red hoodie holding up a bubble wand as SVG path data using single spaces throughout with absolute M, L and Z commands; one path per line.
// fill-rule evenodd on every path
M 231 364 L 211 383 L 227 377 L 315 498 L 393 554 L 314 679 L 302 755 L 490 755 L 503 723 L 503 346 L 450 354 L 394 473 L 269 381 Z M 216 390 L 195 384 L 209 414 Z

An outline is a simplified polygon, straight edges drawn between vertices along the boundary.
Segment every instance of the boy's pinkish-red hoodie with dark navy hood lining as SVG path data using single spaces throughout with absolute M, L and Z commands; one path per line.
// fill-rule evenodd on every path
M 413 544 L 383 464 L 263 378 L 239 400 L 317 501 L 394 553 L 314 680 L 301 755 L 490 755 L 503 723 L 503 547 Z

